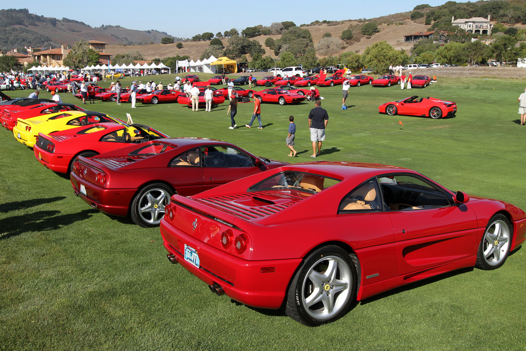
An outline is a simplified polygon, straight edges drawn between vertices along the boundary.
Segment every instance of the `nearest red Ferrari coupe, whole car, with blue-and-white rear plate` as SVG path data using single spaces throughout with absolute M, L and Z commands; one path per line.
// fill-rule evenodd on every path
M 406 168 L 314 162 L 174 195 L 160 231 L 170 262 L 218 295 L 320 325 L 402 285 L 502 266 L 526 213 Z

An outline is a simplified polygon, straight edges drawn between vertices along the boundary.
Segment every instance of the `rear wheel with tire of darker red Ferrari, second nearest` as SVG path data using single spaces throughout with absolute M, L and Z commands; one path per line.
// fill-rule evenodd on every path
M 131 220 L 141 227 L 156 227 L 165 214 L 165 206 L 170 203 L 174 191 L 166 184 L 150 184 L 135 195 L 131 202 Z

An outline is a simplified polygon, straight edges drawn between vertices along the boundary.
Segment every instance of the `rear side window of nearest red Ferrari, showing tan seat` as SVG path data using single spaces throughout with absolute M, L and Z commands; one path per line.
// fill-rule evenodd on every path
M 370 179 L 353 189 L 341 201 L 338 212 L 383 210 L 381 195 L 376 179 Z

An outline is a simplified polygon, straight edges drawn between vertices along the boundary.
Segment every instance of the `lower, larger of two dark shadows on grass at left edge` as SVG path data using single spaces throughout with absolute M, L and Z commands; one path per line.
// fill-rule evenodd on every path
M 25 232 L 45 232 L 57 230 L 98 213 L 95 209 L 85 209 L 79 213 L 58 215 L 59 210 L 38 211 L 0 219 L 0 240 L 5 240 Z

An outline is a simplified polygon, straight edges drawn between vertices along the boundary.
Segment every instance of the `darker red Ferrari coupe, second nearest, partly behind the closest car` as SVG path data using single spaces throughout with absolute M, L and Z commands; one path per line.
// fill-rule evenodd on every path
M 214 139 L 158 139 L 79 156 L 71 181 L 75 194 L 94 208 L 151 227 L 159 225 L 173 194 L 194 195 L 284 164 Z

